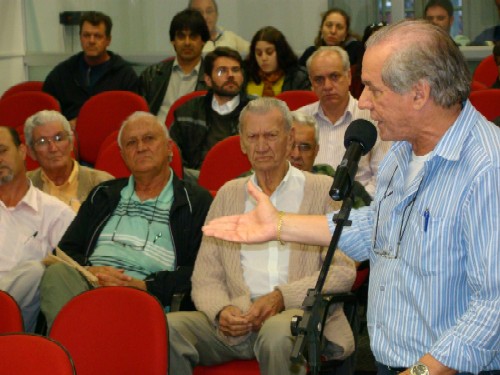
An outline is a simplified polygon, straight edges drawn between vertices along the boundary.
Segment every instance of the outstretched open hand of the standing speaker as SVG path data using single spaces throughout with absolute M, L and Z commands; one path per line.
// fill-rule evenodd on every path
M 257 201 L 257 207 L 242 215 L 223 216 L 203 226 L 203 233 L 226 241 L 259 243 L 275 240 L 278 211 L 269 197 L 248 181 L 248 192 Z

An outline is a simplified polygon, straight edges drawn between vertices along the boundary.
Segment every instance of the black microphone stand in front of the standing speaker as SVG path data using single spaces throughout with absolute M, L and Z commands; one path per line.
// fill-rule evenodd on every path
M 336 224 L 335 231 L 333 232 L 325 260 L 321 267 L 318 276 L 318 281 L 314 289 L 307 291 L 307 296 L 302 302 L 302 309 L 304 310 L 303 316 L 294 316 L 291 322 L 292 335 L 297 336 L 290 359 L 294 363 L 302 363 L 304 358 L 304 348 L 307 343 L 307 354 L 309 370 L 312 375 L 319 374 L 321 365 L 321 334 L 323 332 L 323 316 L 325 313 L 326 305 L 323 303 L 321 292 L 328 275 L 330 265 L 333 260 L 333 255 L 337 244 L 342 234 L 344 226 L 350 226 L 351 221 L 349 214 L 354 202 L 354 197 L 351 194 L 352 189 L 349 189 L 347 198 L 344 199 L 340 211 L 333 216 L 333 222 Z

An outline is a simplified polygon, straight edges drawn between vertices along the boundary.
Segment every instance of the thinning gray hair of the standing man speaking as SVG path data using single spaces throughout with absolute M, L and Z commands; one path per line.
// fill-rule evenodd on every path
M 443 108 L 467 100 L 471 83 L 467 62 L 440 27 L 424 20 L 400 21 L 374 33 L 366 49 L 381 44 L 397 46 L 382 67 L 382 81 L 392 91 L 404 94 L 425 80 L 431 98 Z

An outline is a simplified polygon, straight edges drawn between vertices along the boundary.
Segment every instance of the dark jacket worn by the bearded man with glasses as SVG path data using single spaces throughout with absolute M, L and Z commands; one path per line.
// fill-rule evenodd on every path
M 205 96 L 193 98 L 174 112 L 174 123 L 170 128 L 170 136 L 179 146 L 183 164 L 187 168 L 199 169 L 211 145 L 207 144 L 207 135 L 210 130 L 210 115 L 212 109 L 213 92 Z M 253 97 L 240 94 L 240 104 L 236 109 L 225 116 L 227 119 L 227 137 L 236 135 L 241 110 Z M 213 146 L 213 145 L 212 145 Z

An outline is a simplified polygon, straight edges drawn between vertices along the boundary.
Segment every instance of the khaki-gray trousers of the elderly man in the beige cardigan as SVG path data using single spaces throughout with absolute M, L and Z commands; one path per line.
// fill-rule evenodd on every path
M 169 373 L 187 375 L 193 373 L 196 365 L 210 366 L 234 359 L 256 358 L 263 375 L 304 375 L 305 365 L 290 362 L 295 341 L 290 333 L 290 320 L 302 313 L 302 310 L 290 309 L 275 315 L 259 332 L 233 346 L 218 336 L 204 313 L 169 313 Z

